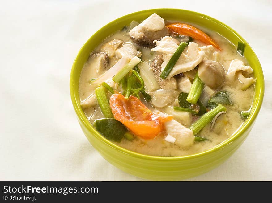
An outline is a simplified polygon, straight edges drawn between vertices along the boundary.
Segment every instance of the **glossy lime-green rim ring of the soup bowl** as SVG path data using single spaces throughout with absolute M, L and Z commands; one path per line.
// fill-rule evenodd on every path
M 262 68 L 261 68 L 261 64 L 259 62 L 259 59 L 257 58 L 257 55 L 255 54 L 255 52 L 253 51 L 253 54 L 256 56 L 256 59 L 257 59 L 257 62 L 259 63 L 258 65 L 260 66 L 260 71 L 258 72 L 258 80 L 261 80 L 259 81 L 260 83 L 260 92 L 256 92 L 255 91 L 255 97 L 257 96 L 258 94 L 258 100 L 256 101 L 256 108 L 254 109 L 254 111 L 250 114 L 249 118 L 244 122 L 243 126 L 241 128 L 239 128 L 238 130 L 236 130 L 236 132 L 234 132 L 232 134 L 231 137 L 229 137 L 227 140 L 224 140 L 223 142 L 221 142 L 220 144 L 214 146 L 213 148 L 210 148 L 206 151 L 203 151 L 203 152 L 199 152 L 199 153 L 195 153 L 195 154 L 190 154 L 190 155 L 186 155 L 186 156 L 152 156 L 152 155 L 146 155 L 146 154 L 141 154 L 141 153 L 138 153 L 138 152 L 133 152 L 133 151 L 130 151 L 128 149 L 125 149 L 125 148 L 122 148 L 114 143 L 112 143 L 111 141 L 107 140 L 106 138 L 104 138 L 104 136 L 102 136 L 99 132 L 96 131 L 96 129 L 91 125 L 91 123 L 88 121 L 87 117 L 85 116 L 81 106 L 80 106 L 80 103 L 77 102 L 76 100 L 76 94 L 79 94 L 78 92 L 74 91 L 74 72 L 75 72 L 75 69 L 76 69 L 76 64 L 79 60 L 79 56 L 82 55 L 83 53 L 83 49 L 85 46 L 87 46 L 88 42 L 90 42 L 92 40 L 92 37 L 94 35 L 96 35 L 97 33 L 99 33 L 101 30 L 105 29 L 106 27 L 108 27 L 109 25 L 112 25 L 114 23 L 118 23 L 119 20 L 123 19 L 123 18 L 127 18 L 127 17 L 130 17 L 131 15 L 135 15 L 135 14 L 139 14 L 139 13 L 144 13 L 144 12 L 157 12 L 157 11 L 168 11 L 168 12 L 171 12 L 171 11 L 183 11 L 183 12 L 189 12 L 191 14 L 194 14 L 194 15 L 200 15 L 208 20 L 211 20 L 217 24 L 220 24 L 221 26 L 224 26 L 226 27 L 228 30 L 232 31 L 237 37 L 239 37 L 247 47 L 249 47 L 252 51 L 253 49 L 250 47 L 250 45 L 246 42 L 246 40 L 241 37 L 235 30 L 233 30 L 231 27 L 225 25 L 223 22 L 220 22 L 219 20 L 215 19 L 215 18 L 212 18 L 208 15 L 205 15 L 205 14 L 201 14 L 201 13 L 198 13 L 198 12 L 195 12 L 195 11 L 190 11 L 190 10 L 183 10 L 183 9 L 173 9 L 173 8 L 157 8 L 157 9 L 148 9 L 148 10 L 141 10 L 141 11 L 137 11 L 137 12 L 134 12 L 134 13 L 130 13 L 130 14 L 127 14 L 127 15 L 124 15 L 120 18 L 117 18 L 111 22 L 109 22 L 108 24 L 106 24 L 105 26 L 103 26 L 102 28 L 100 28 L 99 30 L 97 30 L 87 41 L 86 43 L 84 43 L 84 45 L 80 48 L 75 60 L 74 60 L 74 63 L 72 65 L 72 69 L 71 69 L 71 74 L 70 74 L 70 96 L 71 96 L 71 100 L 72 100 L 72 104 L 74 106 L 74 110 L 78 116 L 78 119 L 84 124 L 84 126 L 91 132 L 92 136 L 95 136 L 97 137 L 100 141 L 102 141 L 104 144 L 108 145 L 109 147 L 111 148 L 114 148 L 116 149 L 117 151 L 120 151 L 124 154 L 127 154 L 127 155 L 130 155 L 130 156 L 133 156 L 133 157 L 136 157 L 136 158 L 140 158 L 140 159 L 147 159 L 147 160 L 157 160 L 157 161 L 170 161 L 170 160 L 187 160 L 187 159 L 191 159 L 191 158 L 199 158 L 201 156 L 205 156 L 207 154 L 210 154 L 211 152 L 215 152 L 215 151 L 219 151 L 220 149 L 224 148 L 226 145 L 232 143 L 233 141 L 237 140 L 244 132 L 246 132 L 249 127 L 251 125 L 253 125 L 254 123 L 254 120 L 256 119 L 260 109 L 261 109 L 261 104 L 262 104 L 262 101 L 263 101 L 263 96 L 264 96 L 264 76 L 263 76 L 263 71 L 262 71 Z

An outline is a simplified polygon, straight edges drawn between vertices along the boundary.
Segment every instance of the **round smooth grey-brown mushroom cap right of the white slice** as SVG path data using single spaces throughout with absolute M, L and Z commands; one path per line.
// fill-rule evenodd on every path
M 198 76 L 203 83 L 215 90 L 224 82 L 225 69 L 219 62 L 204 60 L 199 64 Z

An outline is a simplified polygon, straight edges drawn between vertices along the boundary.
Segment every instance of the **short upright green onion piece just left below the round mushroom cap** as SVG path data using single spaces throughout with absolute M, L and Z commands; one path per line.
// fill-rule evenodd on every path
M 190 102 L 191 104 L 196 104 L 201 95 L 203 87 L 204 87 L 204 84 L 202 83 L 201 79 L 198 77 L 198 72 L 197 72 L 196 75 L 194 76 L 193 84 L 186 100 Z

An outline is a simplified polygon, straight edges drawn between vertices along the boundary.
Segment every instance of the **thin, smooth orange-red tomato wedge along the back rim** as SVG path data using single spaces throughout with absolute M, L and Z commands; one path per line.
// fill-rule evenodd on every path
M 173 23 L 168 25 L 167 27 L 175 33 L 190 36 L 205 44 L 212 45 L 215 48 L 221 50 L 219 45 L 213 39 L 211 39 L 206 33 L 202 32 L 194 26 L 185 23 Z

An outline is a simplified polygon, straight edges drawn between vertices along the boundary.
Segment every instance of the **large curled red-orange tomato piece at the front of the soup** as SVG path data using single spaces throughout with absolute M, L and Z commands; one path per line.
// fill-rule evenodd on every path
M 113 94 L 109 104 L 114 118 L 144 139 L 155 138 L 164 130 L 164 122 L 172 120 L 172 116 L 156 116 L 134 96 L 125 99 L 121 94 Z

